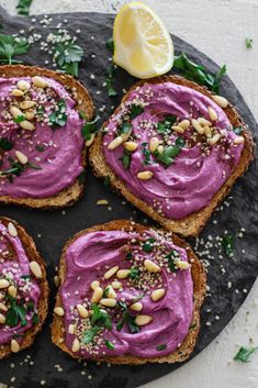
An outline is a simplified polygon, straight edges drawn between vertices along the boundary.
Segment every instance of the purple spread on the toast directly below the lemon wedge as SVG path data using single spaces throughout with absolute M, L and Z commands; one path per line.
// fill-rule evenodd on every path
M 141 107 L 142 111 L 132 117 L 132 107 Z M 215 120 L 211 120 L 209 108 L 215 111 Z M 168 115 L 175 117 L 172 125 L 189 120 L 190 126 L 178 133 L 170 124 L 164 131 Z M 209 121 L 203 126 L 210 128 L 204 134 L 192 125 L 192 119 L 200 118 Z M 126 140 L 137 143 L 136 151 L 126 152 L 127 156 L 125 144 L 109 149 L 112 140 L 126 132 L 124 122 L 130 123 L 132 131 Z M 168 81 L 144 84 L 130 92 L 121 110 L 109 120 L 104 133 L 103 151 L 111 169 L 136 197 L 169 219 L 182 219 L 207 206 L 233 173 L 244 146 L 244 137 L 234 132 L 218 104 L 194 89 Z M 158 137 L 164 149 L 148 155 L 152 137 Z M 182 141 L 178 154 L 172 151 L 172 159 L 166 157 L 164 164 L 157 153 L 167 153 L 177 138 Z M 146 170 L 152 177 L 139 179 L 137 174 Z

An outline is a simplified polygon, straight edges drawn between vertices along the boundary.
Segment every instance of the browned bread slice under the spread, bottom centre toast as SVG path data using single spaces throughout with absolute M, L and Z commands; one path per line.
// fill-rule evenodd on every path
M 86 229 L 77 233 L 74 237 L 71 237 L 65 245 L 60 257 L 60 265 L 59 265 L 60 286 L 66 279 L 66 251 L 74 241 L 76 241 L 80 235 L 83 235 L 90 232 L 122 231 L 122 230 L 126 232 L 143 233 L 148 229 L 147 226 L 135 224 L 134 222 L 131 222 L 127 220 L 116 220 L 105 224 Z M 176 352 L 173 352 L 172 354 L 166 357 L 141 358 L 141 357 L 135 357 L 133 355 L 123 355 L 123 356 L 115 356 L 115 357 L 106 356 L 102 358 L 96 358 L 93 361 L 97 361 L 97 362 L 101 361 L 101 362 L 108 362 L 113 364 L 130 364 L 130 365 L 139 365 L 139 364 L 146 364 L 146 363 L 177 363 L 177 362 L 186 361 L 192 353 L 200 331 L 200 309 L 206 292 L 206 276 L 201 262 L 193 253 L 189 244 L 187 244 L 183 240 L 178 237 L 176 234 L 172 234 L 171 239 L 176 245 L 187 250 L 188 259 L 192 264 L 191 275 L 193 279 L 193 317 L 192 317 L 191 329 L 189 330 L 189 333 L 186 336 L 183 343 L 181 344 L 180 347 L 178 347 Z M 55 307 L 61 307 L 61 306 L 63 306 L 61 297 L 60 297 L 60 293 L 57 292 Z M 64 352 L 69 353 L 72 357 L 76 357 L 76 355 L 67 347 L 65 342 L 64 317 L 54 314 L 54 320 L 52 323 L 52 341 Z

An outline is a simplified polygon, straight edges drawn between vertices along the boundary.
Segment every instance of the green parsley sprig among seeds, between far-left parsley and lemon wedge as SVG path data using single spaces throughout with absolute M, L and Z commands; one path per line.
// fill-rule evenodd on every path
M 83 56 L 83 49 L 71 40 L 57 42 L 54 46 L 54 60 L 58 68 L 74 77 L 78 77 L 79 63 Z

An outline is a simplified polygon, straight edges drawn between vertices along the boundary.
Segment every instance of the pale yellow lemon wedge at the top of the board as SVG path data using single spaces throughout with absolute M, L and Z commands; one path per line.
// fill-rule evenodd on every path
M 113 40 L 113 62 L 134 77 L 161 76 L 172 67 L 172 40 L 160 18 L 142 2 L 122 7 L 114 20 Z

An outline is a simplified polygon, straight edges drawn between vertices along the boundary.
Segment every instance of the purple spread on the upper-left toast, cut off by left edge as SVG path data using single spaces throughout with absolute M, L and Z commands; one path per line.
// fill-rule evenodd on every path
M 82 120 L 75 100 L 56 80 L 42 79 L 47 85 L 44 88 L 30 77 L 0 78 L 0 196 L 51 197 L 71 186 L 83 169 Z M 21 80 L 30 87 L 15 97 L 12 93 Z M 24 101 L 32 101 L 33 107 L 22 109 Z M 11 107 L 20 113 L 13 115 Z M 23 129 L 25 120 L 33 130 Z M 21 163 L 15 151 L 25 155 L 27 163 Z

